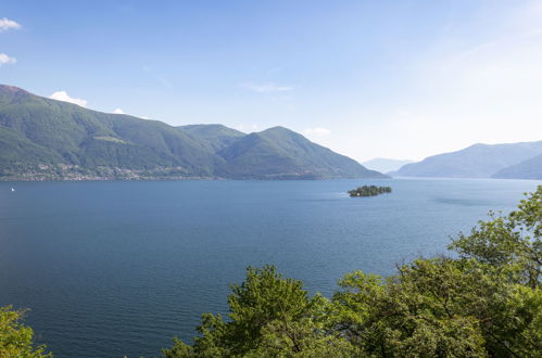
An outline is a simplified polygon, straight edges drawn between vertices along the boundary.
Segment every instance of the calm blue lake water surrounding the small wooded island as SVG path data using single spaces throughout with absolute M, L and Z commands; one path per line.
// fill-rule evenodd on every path
M 351 199 L 361 184 L 391 194 Z M 0 183 L 0 305 L 56 357 L 155 356 L 225 312 L 228 283 L 274 264 L 330 296 L 361 269 L 445 253 L 488 210 L 541 181 L 109 181 Z M 15 188 L 15 192 L 11 188 Z

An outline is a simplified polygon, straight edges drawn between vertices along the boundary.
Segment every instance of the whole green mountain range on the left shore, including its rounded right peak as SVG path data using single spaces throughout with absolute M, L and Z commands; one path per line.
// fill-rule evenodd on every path
M 173 127 L 0 85 L 0 180 L 382 176 L 288 132 L 281 138 L 220 125 Z M 267 145 L 251 148 L 253 137 Z M 323 153 L 322 161 L 313 153 Z

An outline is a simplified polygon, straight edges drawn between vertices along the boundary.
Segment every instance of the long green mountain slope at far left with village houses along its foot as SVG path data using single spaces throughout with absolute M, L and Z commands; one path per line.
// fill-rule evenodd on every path
M 207 177 L 224 164 L 164 123 L 90 111 L 11 86 L 0 87 L 0 175 L 15 178 L 150 175 L 156 168 Z

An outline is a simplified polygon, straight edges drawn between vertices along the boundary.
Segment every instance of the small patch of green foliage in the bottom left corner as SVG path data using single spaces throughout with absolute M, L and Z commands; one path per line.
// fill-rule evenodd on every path
M 14 310 L 11 306 L 0 307 L 0 357 L 52 357 L 45 354 L 45 346 L 34 346 L 34 331 L 21 323 L 24 311 Z

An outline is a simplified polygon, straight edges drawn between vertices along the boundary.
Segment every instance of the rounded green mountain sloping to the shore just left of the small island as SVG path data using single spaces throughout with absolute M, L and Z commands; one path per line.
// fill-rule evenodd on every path
M 241 179 L 386 177 L 283 127 L 244 136 L 217 154 L 228 177 Z

